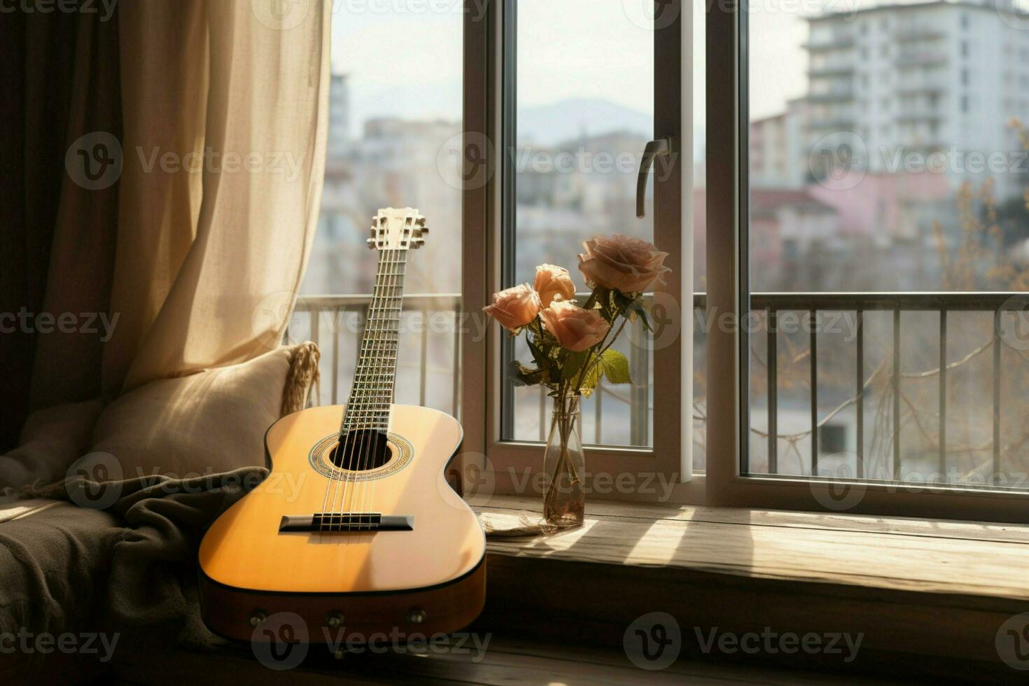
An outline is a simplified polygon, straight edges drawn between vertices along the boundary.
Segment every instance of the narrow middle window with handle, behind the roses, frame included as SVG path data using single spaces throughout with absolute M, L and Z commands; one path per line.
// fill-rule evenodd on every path
M 681 189 L 693 172 L 693 137 L 687 133 L 683 140 L 681 134 L 680 97 L 683 83 L 689 84 L 682 79 L 681 32 L 693 16 L 684 21 L 682 6 L 679 0 L 507 0 L 493 3 L 483 23 L 466 17 L 466 69 L 488 94 L 478 101 L 486 106 L 482 129 L 466 120 L 466 130 L 482 132 L 496 169 L 481 187 L 466 185 L 465 251 L 482 249 L 488 258 L 485 273 L 466 262 L 465 293 L 482 284 L 475 294 L 482 299 L 531 279 L 543 261 L 569 267 L 588 290 L 575 265 L 582 242 L 595 234 L 645 238 L 671 254 L 675 268 L 650 296 L 652 313 L 668 332 L 663 336 L 659 326 L 650 335 L 640 327 L 617 344 L 630 359 L 634 383 L 602 385 L 582 403 L 588 479 L 655 471 L 675 481 L 689 478 L 683 456 L 690 450 L 682 445 L 687 434 L 679 427 L 680 398 L 690 397 L 693 381 L 681 367 L 684 359 L 691 364 L 693 347 L 683 357 L 679 332 L 691 330 L 693 303 L 679 304 L 678 283 L 693 280 L 689 262 L 684 269 L 681 261 L 693 246 L 691 240 L 681 245 L 683 225 L 690 223 L 682 217 Z M 640 219 L 641 155 L 648 142 L 665 137 L 672 155 L 655 160 Z M 465 158 L 467 144 L 468 134 Z M 476 225 L 487 226 L 485 241 L 469 230 Z M 470 301 L 466 306 L 475 309 Z M 498 484 L 505 483 L 498 488 L 506 489 L 514 475 L 541 466 L 549 398 L 538 387 L 514 387 L 503 373 L 507 360 L 526 358 L 517 347 L 522 339 L 490 328 L 484 340 L 469 342 L 474 348 L 465 359 L 482 351 L 477 364 L 486 388 L 474 391 L 480 402 L 473 384 L 464 384 L 465 416 L 481 412 L 484 426 L 481 435 L 466 426 L 465 449 L 485 454 Z

